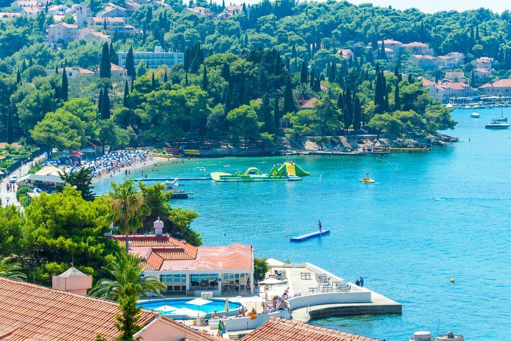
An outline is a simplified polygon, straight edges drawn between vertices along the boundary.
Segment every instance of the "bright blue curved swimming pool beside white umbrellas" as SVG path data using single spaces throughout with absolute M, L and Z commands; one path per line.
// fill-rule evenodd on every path
M 211 303 L 203 304 L 201 306 L 188 304 L 188 302 L 190 302 L 194 299 L 195 298 L 186 298 L 186 299 L 175 298 L 175 299 L 166 299 L 166 300 L 157 299 L 157 300 L 150 300 L 147 302 L 140 302 L 137 304 L 137 306 L 141 307 L 143 309 L 157 311 L 157 312 L 161 313 L 162 315 L 169 316 L 170 318 L 173 318 L 173 319 L 178 317 L 177 315 L 173 314 L 173 309 L 169 310 L 169 311 L 164 311 L 161 309 L 162 306 L 167 305 L 167 306 L 170 306 L 170 307 L 176 308 L 176 309 L 187 308 L 187 309 L 191 309 L 191 310 L 200 310 L 207 314 L 206 317 L 211 316 L 211 314 L 215 310 L 218 310 L 219 314 L 225 314 L 225 311 L 224 311 L 225 310 L 224 309 L 225 308 L 225 300 L 207 299 L 208 301 L 211 301 Z M 241 303 L 229 301 L 229 315 L 231 315 L 233 313 L 236 314 L 237 311 L 240 309 L 240 307 L 241 307 Z M 160 308 L 160 309 L 158 309 L 158 308 Z

